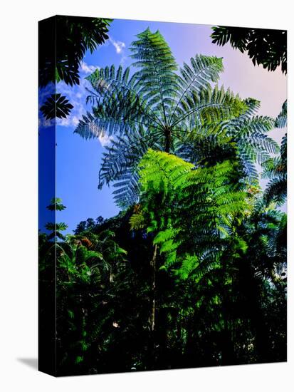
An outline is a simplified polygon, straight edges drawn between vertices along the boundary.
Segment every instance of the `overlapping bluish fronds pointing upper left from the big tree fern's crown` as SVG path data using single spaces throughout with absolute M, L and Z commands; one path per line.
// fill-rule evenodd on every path
M 81 120 L 75 132 L 83 138 L 95 138 L 99 132 L 129 133 L 139 125 L 150 125 L 158 120 L 137 92 L 133 80 L 128 78 L 129 68 L 122 76 L 121 66 L 105 67 L 88 76 L 95 94 L 88 97 L 93 103 L 93 113 Z M 96 104 L 95 104 L 96 103 Z

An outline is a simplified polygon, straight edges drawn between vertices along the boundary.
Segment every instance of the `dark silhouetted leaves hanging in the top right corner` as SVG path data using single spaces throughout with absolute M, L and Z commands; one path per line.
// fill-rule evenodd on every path
M 287 73 L 287 31 L 228 26 L 212 29 L 213 43 L 224 46 L 229 42 L 241 53 L 246 51 L 254 65 L 261 64 L 268 71 L 275 71 L 281 65 L 282 72 Z

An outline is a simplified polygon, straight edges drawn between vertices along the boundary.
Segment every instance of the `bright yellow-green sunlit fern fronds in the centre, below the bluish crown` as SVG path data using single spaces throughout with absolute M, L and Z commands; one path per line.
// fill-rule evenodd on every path
M 148 150 L 139 167 L 141 213 L 151 221 L 149 232 L 166 266 L 181 265 L 180 255 L 189 249 L 203 263 L 199 277 L 213 269 L 231 239 L 233 222 L 248 211 L 238 161 L 194 167 L 175 155 Z

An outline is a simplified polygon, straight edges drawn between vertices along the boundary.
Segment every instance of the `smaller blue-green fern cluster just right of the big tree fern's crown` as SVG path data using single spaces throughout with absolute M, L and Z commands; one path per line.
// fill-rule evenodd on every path
M 184 140 L 177 155 L 195 165 L 206 166 L 224 160 L 238 160 L 243 174 L 253 185 L 258 182 L 256 163 L 278 153 L 278 143 L 268 136 L 275 120 L 257 115 L 260 103 L 246 100 L 247 110 L 232 120 L 201 125 Z

